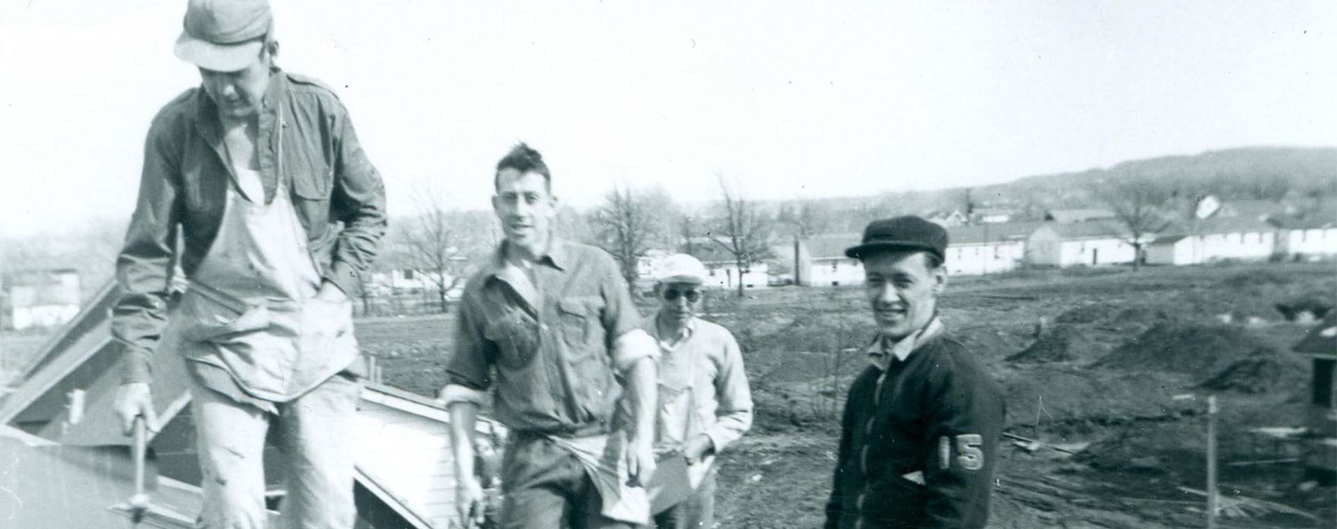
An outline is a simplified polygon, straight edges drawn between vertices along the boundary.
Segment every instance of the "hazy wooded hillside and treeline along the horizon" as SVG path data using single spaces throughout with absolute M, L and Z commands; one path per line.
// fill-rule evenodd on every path
M 737 175 L 734 175 L 737 176 Z M 393 183 L 392 183 L 393 184 Z M 738 228 L 738 207 L 747 207 L 746 239 L 757 248 L 765 240 L 790 240 L 821 232 L 857 232 L 878 218 L 933 211 L 1001 208 L 1012 220 L 1039 220 L 1050 208 L 1106 207 L 1119 196 L 1134 196 L 1126 215 L 1143 231 L 1161 222 L 1147 211 L 1189 211 L 1202 196 L 1221 200 L 1285 200 L 1298 210 L 1318 210 L 1337 199 L 1337 147 L 1241 147 L 1197 155 L 1161 156 L 1118 163 L 1107 168 L 1024 176 L 975 188 L 877 192 L 866 196 L 801 200 L 753 200 L 725 188 L 705 194 L 701 203 L 673 203 L 662 188 L 611 187 L 603 203 L 587 211 L 563 206 L 556 228 L 563 236 L 595 243 L 620 255 L 623 274 L 651 247 L 690 251 L 693 244 L 730 238 Z M 1118 191 L 1118 192 L 1115 192 Z M 427 200 L 431 194 L 424 195 Z M 742 202 L 739 202 L 742 200 Z M 1122 202 L 1120 202 L 1122 200 Z M 492 212 L 453 210 L 425 202 L 425 212 L 390 220 L 382 242 L 380 270 L 412 267 L 433 271 L 451 282 L 436 285 L 440 303 L 457 287 L 457 278 L 485 255 L 495 239 Z M 424 204 L 418 204 L 424 206 Z M 128 219 L 90 223 L 82 232 L 33 235 L 0 240 L 0 275 L 25 269 L 78 269 L 88 295 L 111 278 L 115 254 Z M 1337 219 L 1334 219 L 1337 220 Z M 751 226 L 765 226 L 753 230 Z M 1146 226 L 1143 226 L 1146 224 Z M 755 234 L 753 232 L 755 231 Z M 751 240 L 758 239 L 758 240 Z M 746 244 L 745 244 L 746 246 Z M 755 252 L 751 246 L 737 254 Z

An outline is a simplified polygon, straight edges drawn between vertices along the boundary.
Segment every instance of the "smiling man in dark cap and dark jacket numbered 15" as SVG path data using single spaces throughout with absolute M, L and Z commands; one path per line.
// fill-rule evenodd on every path
M 878 334 L 849 389 L 826 528 L 983 528 L 1003 394 L 937 317 L 947 230 L 876 220 L 845 255 L 864 263 Z

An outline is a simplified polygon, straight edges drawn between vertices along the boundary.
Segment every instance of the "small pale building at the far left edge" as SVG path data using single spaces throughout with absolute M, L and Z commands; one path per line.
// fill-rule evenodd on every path
M 23 270 L 4 278 L 5 321 L 13 329 L 55 327 L 79 315 L 79 273 Z

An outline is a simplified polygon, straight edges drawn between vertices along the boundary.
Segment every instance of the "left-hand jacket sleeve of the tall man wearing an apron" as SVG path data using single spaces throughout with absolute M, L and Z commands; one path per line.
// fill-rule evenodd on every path
M 116 256 L 120 297 L 111 333 L 124 346 L 122 382 L 150 382 L 150 359 L 167 326 L 167 295 L 180 222 L 180 195 L 168 124 L 155 119 L 144 142 L 139 198 Z

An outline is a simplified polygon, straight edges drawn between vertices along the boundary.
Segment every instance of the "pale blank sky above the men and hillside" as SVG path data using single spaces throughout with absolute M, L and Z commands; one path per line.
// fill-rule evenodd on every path
M 123 219 L 144 132 L 199 83 L 183 0 L 0 0 L 0 236 Z M 1337 144 L 1337 3 L 274 0 L 389 190 L 487 207 L 539 148 L 576 206 L 738 179 L 808 198 Z

